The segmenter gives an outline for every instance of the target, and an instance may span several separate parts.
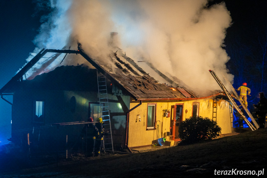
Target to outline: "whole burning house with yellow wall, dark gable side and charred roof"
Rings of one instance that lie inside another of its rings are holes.
[[[82,55],[93,67],[61,66],[22,80],[47,52]],[[179,123],[193,115],[216,120],[222,134],[232,132],[232,107],[222,93],[196,95],[180,86],[176,77],[171,79],[148,64],[170,85],[162,84],[120,49],[109,59],[99,62],[81,49],[40,51],[0,90],[1,95],[13,95],[10,140],[22,143],[28,139],[32,147],[52,150],[57,145],[64,150],[67,142],[69,150],[79,149],[88,117],[94,121],[103,117],[114,148],[151,145],[162,137],[178,141]],[[101,78],[104,84],[100,84]],[[108,114],[102,113],[105,107]]]

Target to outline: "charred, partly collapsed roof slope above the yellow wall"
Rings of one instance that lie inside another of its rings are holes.
[[[156,71],[153,70],[172,85],[168,86],[159,83],[144,69],[139,67],[134,60],[123,54],[120,49],[110,55],[110,61],[116,67],[110,67],[110,65],[101,65],[101,67],[106,72],[109,72],[110,76],[117,80],[135,99],[197,98],[195,94],[179,87],[179,84],[159,72],[151,63],[148,63],[149,67],[156,69]]]

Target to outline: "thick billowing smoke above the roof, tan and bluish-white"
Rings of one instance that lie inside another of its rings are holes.
[[[37,51],[64,46],[76,50],[79,41],[89,55],[105,59],[112,50],[110,32],[118,32],[117,45],[130,58],[148,60],[159,71],[176,76],[192,88],[219,89],[208,70],[233,79],[226,74],[229,57],[222,49],[231,17],[225,3],[209,8],[207,3],[208,0],[51,0],[55,11],[35,39]],[[58,65],[61,59],[48,68]]]

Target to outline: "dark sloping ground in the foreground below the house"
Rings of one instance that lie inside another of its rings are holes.
[[[60,157],[57,163],[50,160],[51,163],[31,168],[16,168],[19,163],[14,162],[14,167],[0,169],[0,177],[214,177],[215,170],[235,169],[256,173],[265,169],[259,177],[267,177],[266,138],[267,128],[221,135],[192,145],[139,147],[132,148],[134,153],[120,150],[87,159],[83,155]]]

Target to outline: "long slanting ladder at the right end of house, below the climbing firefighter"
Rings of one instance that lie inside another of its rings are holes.
[[[248,127],[254,131],[257,128],[259,128],[259,125],[256,123],[255,119],[252,117],[252,115],[250,114],[250,112],[248,111],[248,109],[243,105],[243,103],[240,101],[239,96],[237,95],[237,93],[234,91],[234,87],[231,85],[231,89],[233,90],[236,98],[238,98],[239,102],[241,103],[241,106],[244,108],[244,110],[247,112],[248,116],[250,117],[250,119],[252,120],[252,122],[254,123],[255,127],[248,121],[248,119],[246,118],[246,116],[243,114],[243,112],[240,110],[240,108],[238,107],[238,105],[236,104],[236,102],[234,101],[234,99],[231,97],[230,93],[227,91],[227,89],[225,88],[225,86],[222,84],[221,80],[216,76],[215,72],[213,70],[209,70],[209,72],[211,73],[211,75],[213,76],[213,78],[217,81],[217,83],[219,84],[219,86],[222,88],[222,90],[225,92],[226,96],[228,97],[228,99],[230,100],[230,102],[232,103],[232,105],[235,107],[235,109],[239,112],[239,114],[242,116],[242,118],[245,120],[245,122],[248,124]]]

